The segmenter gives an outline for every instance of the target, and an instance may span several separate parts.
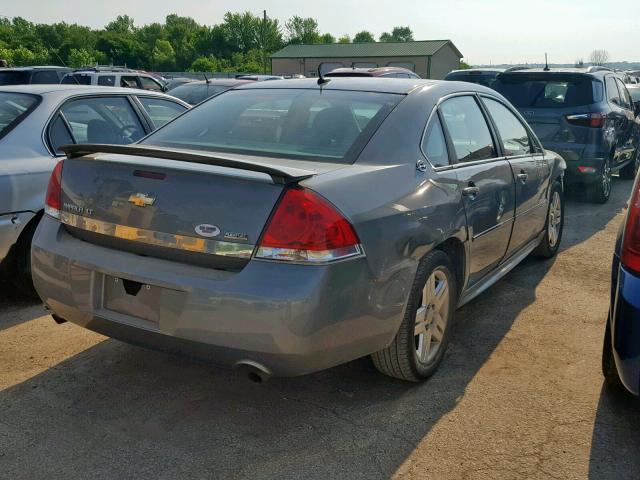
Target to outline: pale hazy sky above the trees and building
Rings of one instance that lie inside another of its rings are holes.
[[[607,8],[611,7],[611,8]],[[376,37],[408,25],[416,40],[450,39],[471,64],[588,61],[605,49],[612,61],[640,61],[640,8],[634,0],[0,0],[0,15],[36,23],[65,21],[103,27],[127,14],[136,25],[167,14],[220,23],[225,12],[266,9],[282,24],[293,15],[313,17],[322,33]]]

